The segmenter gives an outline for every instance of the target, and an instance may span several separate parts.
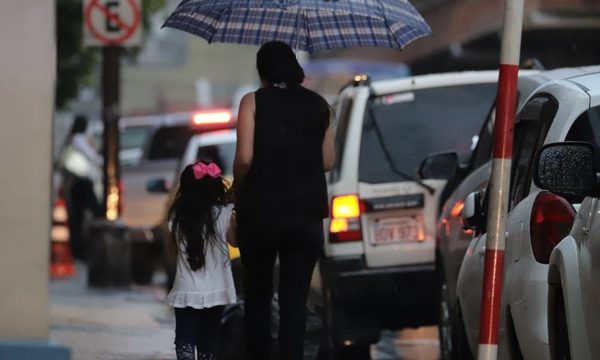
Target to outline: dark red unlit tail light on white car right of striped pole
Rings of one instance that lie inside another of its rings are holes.
[[[531,248],[535,259],[543,264],[550,260],[552,249],[569,234],[575,219],[575,209],[564,198],[541,192],[531,212]]]

